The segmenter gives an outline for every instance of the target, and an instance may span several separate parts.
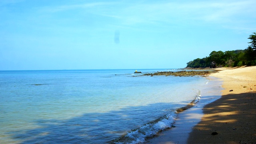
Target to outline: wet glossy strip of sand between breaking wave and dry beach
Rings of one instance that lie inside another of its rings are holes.
[[[206,77],[207,78],[207,77]],[[200,122],[203,116],[203,107],[221,97],[222,81],[209,76],[207,86],[200,88],[201,98],[193,107],[177,114],[172,128],[160,132],[153,138],[148,138],[146,144],[185,144],[192,128]]]

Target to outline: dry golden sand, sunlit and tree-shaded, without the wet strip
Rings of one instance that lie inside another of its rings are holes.
[[[256,66],[218,70],[211,75],[223,80],[222,97],[204,107],[187,143],[256,143]]]

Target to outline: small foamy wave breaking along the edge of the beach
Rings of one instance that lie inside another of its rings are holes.
[[[165,116],[162,116],[157,120],[144,124],[140,128],[131,130],[130,132],[127,132],[124,136],[118,139],[115,139],[110,143],[111,144],[144,143],[146,142],[146,138],[156,136],[159,132],[166,130],[167,128],[174,127],[173,124],[175,119],[177,118],[177,114],[179,112],[182,112],[183,110],[193,107],[197,102],[199,102],[200,98],[201,98],[201,94],[200,94],[200,90],[198,90],[198,94],[196,95],[196,98],[192,100],[192,102],[190,102],[187,106],[178,108],[176,110],[172,110],[170,113],[166,114]]]

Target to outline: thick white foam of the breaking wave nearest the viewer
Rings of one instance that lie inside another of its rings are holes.
[[[160,118],[159,121],[151,122],[141,126],[140,128],[127,132],[122,140],[115,144],[138,144],[146,142],[146,138],[155,136],[161,130],[170,128],[177,118],[177,111],[173,111],[166,116]]]

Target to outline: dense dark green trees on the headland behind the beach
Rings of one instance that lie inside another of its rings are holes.
[[[205,58],[197,58],[187,63],[189,68],[206,68],[210,67],[212,62],[216,62],[216,66],[256,66],[256,32],[253,32],[248,42],[250,46],[245,50],[231,51],[212,51]]]

